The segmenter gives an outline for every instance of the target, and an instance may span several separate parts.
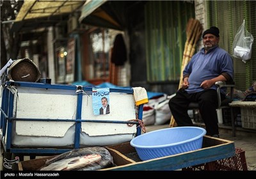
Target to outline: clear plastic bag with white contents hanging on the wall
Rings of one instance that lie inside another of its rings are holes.
[[[246,30],[245,20],[239,27],[233,42],[233,56],[242,59],[244,63],[251,58],[252,55],[253,36]]]

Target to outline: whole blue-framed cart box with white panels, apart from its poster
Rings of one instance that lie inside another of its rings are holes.
[[[106,115],[93,114],[93,88],[6,81],[1,86],[4,151],[56,154],[125,143],[141,134],[143,104],[135,105],[132,88],[109,88]]]

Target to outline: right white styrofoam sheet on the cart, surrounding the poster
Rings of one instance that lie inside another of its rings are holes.
[[[112,120],[129,121],[136,119],[134,97],[126,93],[109,93],[110,113],[94,115],[92,110],[92,97],[83,96],[82,119],[87,120]],[[120,123],[82,123],[82,131],[89,136],[106,136],[113,134],[134,134],[136,125],[129,127]]]

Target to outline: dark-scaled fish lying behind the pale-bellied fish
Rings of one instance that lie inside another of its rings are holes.
[[[86,166],[77,167],[74,170],[97,170],[97,169],[103,169],[106,167],[112,167],[113,157],[109,153],[109,151],[100,146],[93,146],[93,147],[85,147],[85,148],[79,148],[70,150],[69,152],[61,153],[60,155],[57,155],[56,157],[53,157],[52,159],[49,159],[45,162],[45,165],[42,166],[39,170],[42,170],[44,167],[49,166],[50,164],[54,162],[58,162],[60,160],[67,160],[68,162],[71,162],[72,160],[75,160],[75,157],[84,157],[86,155],[100,155],[100,160],[97,160],[97,162],[91,162],[86,164]],[[64,164],[63,162],[62,165]],[[53,169],[52,169],[53,170]]]

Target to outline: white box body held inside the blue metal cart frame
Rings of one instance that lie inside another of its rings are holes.
[[[77,94],[75,90],[11,87],[14,95],[13,117],[25,119],[75,120]],[[109,145],[131,141],[136,136],[136,125],[115,121],[136,119],[132,94],[109,93],[111,113],[94,115],[92,95],[83,93],[81,119],[106,120],[111,123],[82,122],[80,143]],[[12,144],[15,146],[67,146],[74,144],[74,121],[14,121]]]

